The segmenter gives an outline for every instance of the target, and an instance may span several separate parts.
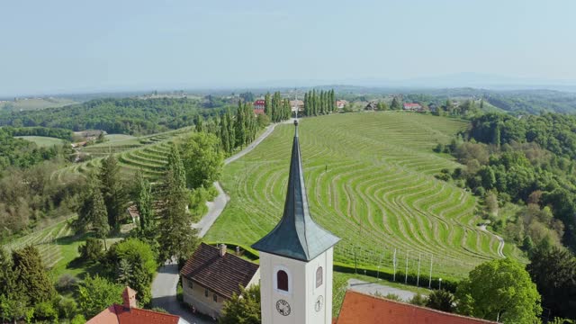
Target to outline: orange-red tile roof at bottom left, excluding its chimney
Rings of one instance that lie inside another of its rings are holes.
[[[126,309],[121,305],[112,305],[101,311],[86,324],[177,324],[180,318],[157,311]]]

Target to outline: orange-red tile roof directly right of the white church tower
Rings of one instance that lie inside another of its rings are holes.
[[[486,324],[495,323],[393,302],[364,293],[347,291],[337,324]]]

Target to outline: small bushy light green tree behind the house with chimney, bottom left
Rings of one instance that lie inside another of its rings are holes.
[[[97,313],[114,303],[122,302],[122,286],[95,275],[86,275],[84,283],[78,287],[78,306],[86,318],[91,319]]]

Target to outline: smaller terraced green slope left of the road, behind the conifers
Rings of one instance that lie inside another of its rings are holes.
[[[52,176],[61,180],[70,172],[85,175],[100,166],[103,157],[114,153],[118,157],[122,175],[130,177],[141,170],[149,179],[155,180],[164,172],[171,143],[182,139],[189,131],[190,128],[184,128],[143,138],[122,137],[82,148],[81,151],[93,159],[62,168]]]

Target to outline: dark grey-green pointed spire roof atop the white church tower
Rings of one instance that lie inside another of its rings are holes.
[[[290,175],[282,220],[252,247],[281,257],[310,261],[338,243],[340,238],[322,229],[311,218],[302,171],[298,120],[294,121],[294,125]]]

